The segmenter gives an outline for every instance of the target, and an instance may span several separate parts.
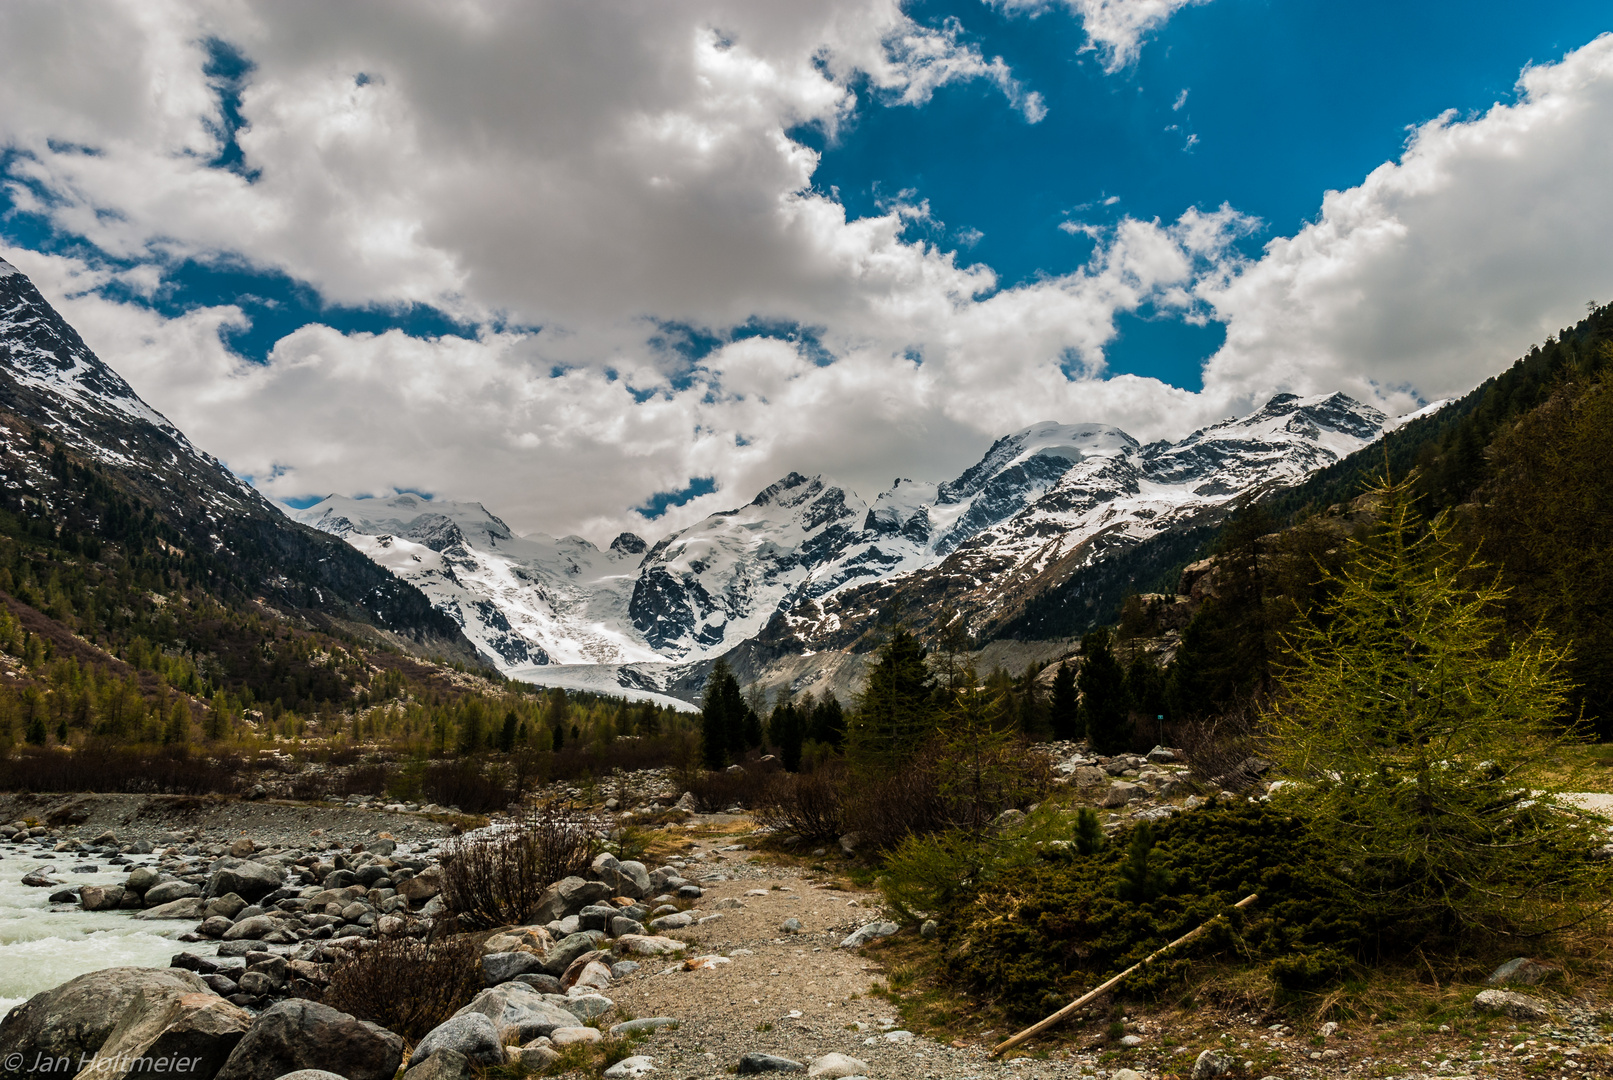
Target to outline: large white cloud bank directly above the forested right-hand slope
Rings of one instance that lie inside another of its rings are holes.
[[[1229,403],[1461,393],[1613,295],[1613,35],[1529,68],[1516,103],[1411,135],[1318,219],[1197,295],[1227,322]]]

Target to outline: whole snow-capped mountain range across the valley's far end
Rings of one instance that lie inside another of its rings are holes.
[[[1102,424],[1032,424],[953,480],[898,479],[868,503],[792,472],[648,550],[632,534],[603,551],[516,537],[481,505],[413,495],[295,516],[418,585],[506,671],[692,663],[781,617],[805,645],[845,645],[894,592],[979,622],[1050,572],[1300,480],[1382,427],[1344,395],[1279,395],[1147,447]]]

